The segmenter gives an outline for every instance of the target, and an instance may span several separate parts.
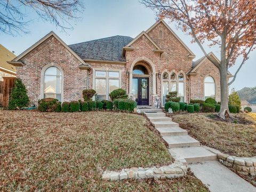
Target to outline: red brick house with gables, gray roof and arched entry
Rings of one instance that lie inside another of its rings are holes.
[[[153,105],[157,95],[163,105],[170,91],[178,91],[184,102],[208,97],[220,101],[218,68],[206,57],[194,58],[161,20],[134,39],[113,36],[67,45],[51,32],[10,63],[33,103],[47,97],[49,85],[55,91],[52,97],[60,101],[79,100],[84,89],[97,91],[98,99],[109,99],[117,88],[134,95],[138,105]]]

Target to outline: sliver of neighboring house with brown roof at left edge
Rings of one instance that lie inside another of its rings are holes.
[[[0,81],[3,81],[3,77],[16,76],[15,67],[8,63],[8,61],[13,60],[15,57],[16,55],[0,44]]]

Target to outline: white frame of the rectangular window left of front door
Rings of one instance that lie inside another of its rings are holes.
[[[96,71],[106,71],[106,77],[97,77],[96,76]],[[119,77],[109,77],[109,72],[118,72]],[[122,87],[122,69],[104,69],[104,68],[94,68],[93,69],[93,85],[92,89],[95,90],[95,79],[106,79],[106,100],[110,100],[109,98],[109,79],[118,79],[119,80],[119,87]],[[96,90],[95,90],[96,91]],[[102,94],[99,94],[102,95]],[[95,101],[95,96],[93,97],[93,100]]]

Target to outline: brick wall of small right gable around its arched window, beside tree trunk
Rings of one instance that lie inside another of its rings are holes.
[[[212,76],[215,81],[215,99],[220,101],[220,73],[219,69],[208,59],[196,71],[196,76],[190,77],[191,99],[204,99],[204,79]]]

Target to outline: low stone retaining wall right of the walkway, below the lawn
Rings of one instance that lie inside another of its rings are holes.
[[[218,153],[220,163],[243,175],[256,175],[256,157],[236,157]]]

